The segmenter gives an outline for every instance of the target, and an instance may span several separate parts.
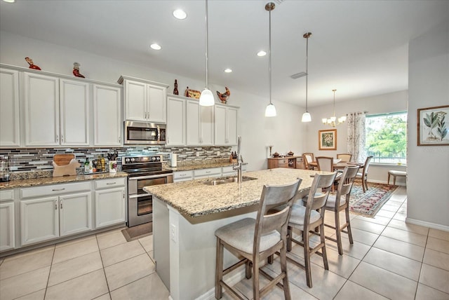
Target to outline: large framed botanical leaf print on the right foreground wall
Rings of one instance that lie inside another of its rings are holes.
[[[418,109],[418,146],[449,146],[449,105]]]

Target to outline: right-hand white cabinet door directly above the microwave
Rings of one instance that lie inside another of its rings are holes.
[[[167,115],[167,88],[147,85],[148,88],[148,118],[152,123],[166,123]]]

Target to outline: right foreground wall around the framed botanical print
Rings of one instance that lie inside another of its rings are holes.
[[[407,221],[449,231],[449,146],[417,146],[416,130],[417,109],[449,104],[449,20],[410,41],[408,86]]]

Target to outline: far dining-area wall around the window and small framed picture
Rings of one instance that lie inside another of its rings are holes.
[[[337,87],[336,87],[337,88]],[[338,89],[337,89],[338,92]],[[408,91],[360,98],[357,100],[338,100],[335,93],[335,116],[338,118],[350,112],[368,111],[370,114],[385,114],[396,111],[407,111]],[[330,92],[330,97],[332,93]],[[313,100],[312,100],[313,101]],[[337,125],[337,150],[319,151],[319,130],[334,129],[321,123],[322,118],[329,118],[333,114],[333,104],[309,108],[312,121],[306,125],[307,139],[304,141],[304,152],[313,152],[315,156],[337,157],[339,153],[347,153],[347,124]],[[368,181],[387,183],[388,170],[406,170],[406,166],[397,165],[370,165]],[[396,184],[405,185],[405,179],[398,177]]]

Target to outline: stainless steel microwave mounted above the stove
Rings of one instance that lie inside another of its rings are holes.
[[[125,144],[165,144],[166,124],[125,121]]]

